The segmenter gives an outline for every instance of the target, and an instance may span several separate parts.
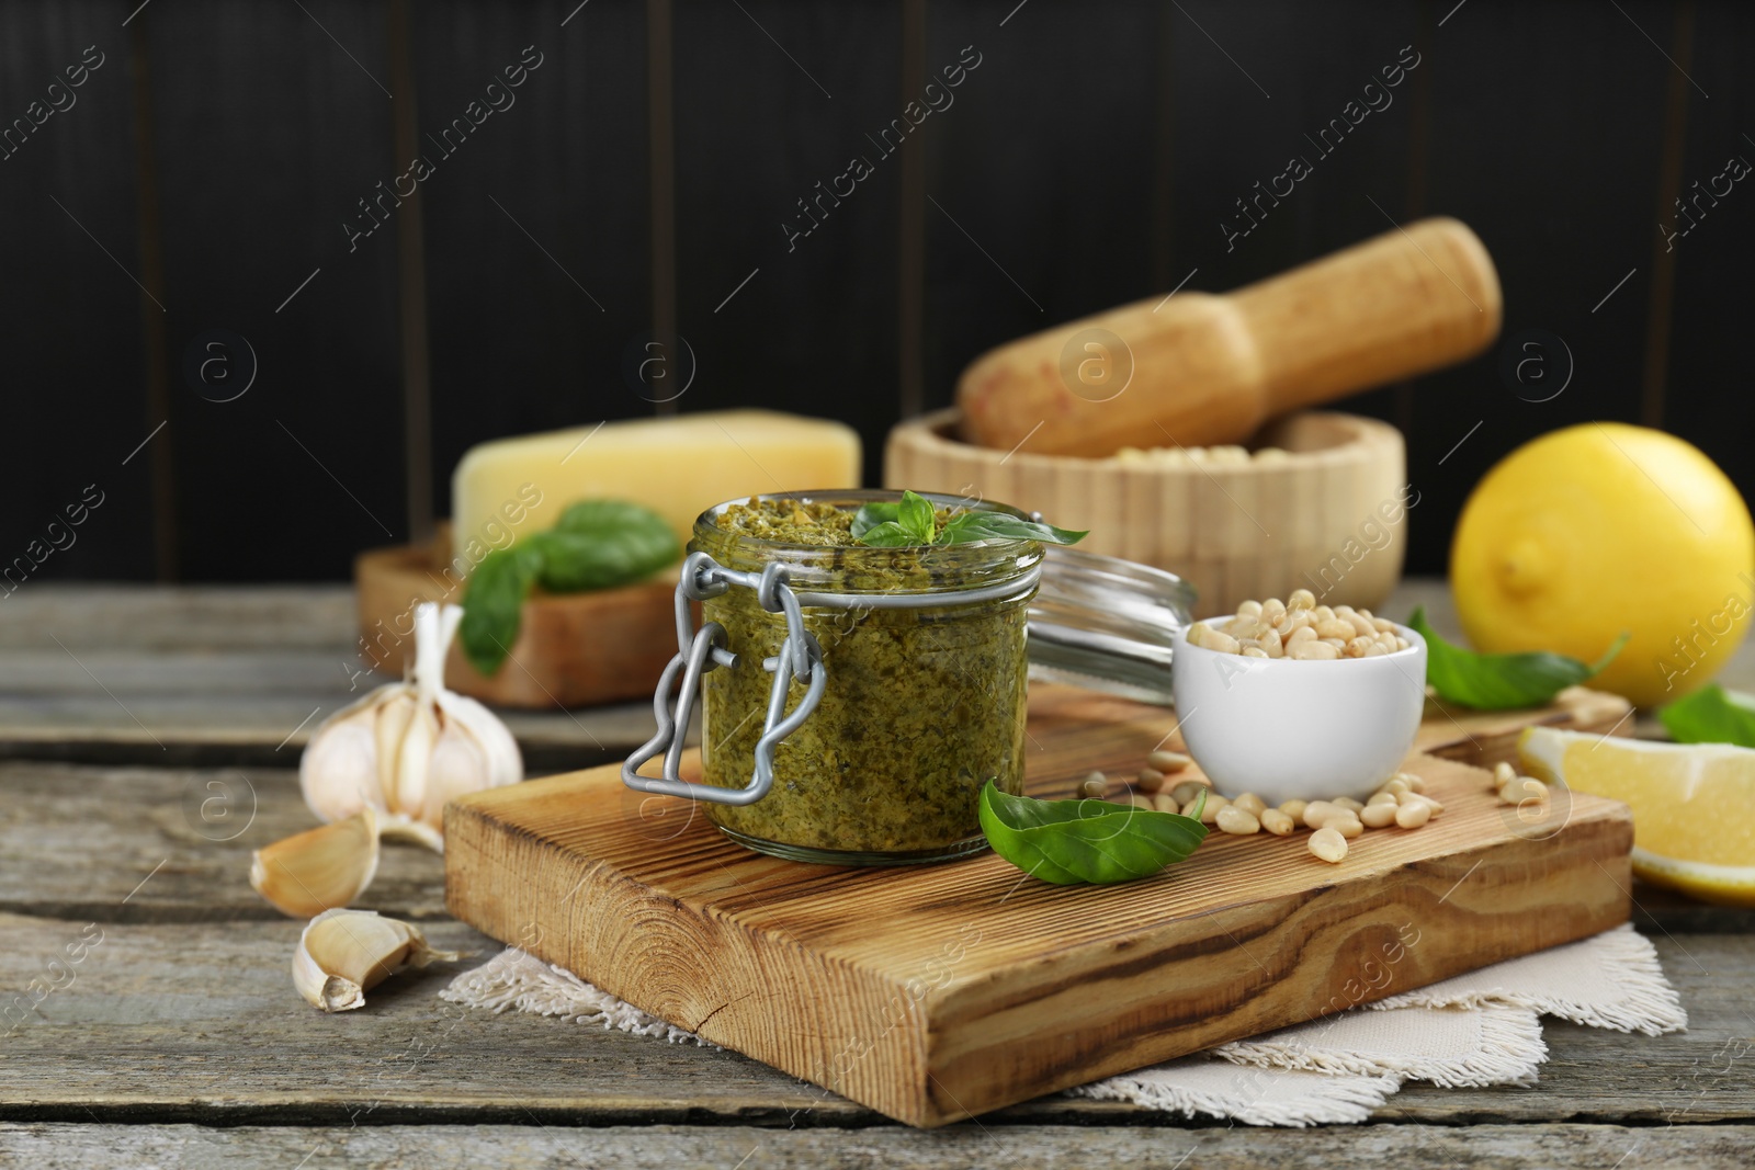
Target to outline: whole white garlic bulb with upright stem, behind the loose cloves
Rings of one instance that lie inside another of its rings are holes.
[[[386,837],[442,849],[448,800],[525,777],[518,742],[498,716],[444,688],[462,619],[458,605],[416,607],[411,677],[337,710],[311,735],[298,784],[319,817],[374,809]]]

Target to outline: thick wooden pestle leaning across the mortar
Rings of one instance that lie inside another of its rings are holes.
[[[956,384],[963,439],[1106,456],[1246,440],[1276,414],[1425,374],[1499,333],[1499,275],[1422,219],[1234,293],[1176,293],[1009,342]]]

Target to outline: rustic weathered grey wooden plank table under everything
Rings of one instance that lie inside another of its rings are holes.
[[[1415,603],[1453,631],[1437,582]],[[1636,888],[1692,1026],[1548,1023],[1534,1088],[1413,1084],[1362,1126],[1251,1130],[1044,1098],[914,1131],[732,1052],[463,1010],[451,970],[367,1010],[293,993],[298,923],[246,879],[311,824],[297,756],[363,693],[344,588],[37,588],[0,605],[0,1165],[1732,1166],[1755,1158],[1755,914]],[[1755,651],[1727,681],[1755,686]],[[349,688],[355,688],[349,691]],[[516,716],[532,774],[618,758],[628,705]],[[386,853],[363,905],[441,947],[442,868]],[[68,951],[72,947],[72,951]],[[82,954],[68,963],[68,954]]]

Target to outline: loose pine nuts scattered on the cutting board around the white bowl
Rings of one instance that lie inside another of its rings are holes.
[[[1278,809],[1271,809],[1255,793],[1241,796],[1221,796],[1202,781],[1181,781],[1172,784],[1171,775],[1181,772],[1192,760],[1174,751],[1155,751],[1146,758],[1146,767],[1134,777],[1134,791],[1127,800],[1135,809],[1155,812],[1179,812],[1193,816],[1202,793],[1206,805],[1200,809],[1200,823],[1211,824],[1221,833],[1234,837],[1253,837],[1267,830],[1274,837],[1290,837],[1300,828],[1313,830],[1309,851],[1323,861],[1337,863],[1346,858],[1346,842],[1360,837],[1367,828],[1422,828],[1432,817],[1444,812],[1444,805],[1436,796],[1425,795],[1425,781],[1413,772],[1397,772],[1385,781],[1364,803],[1337,796],[1334,800],[1288,800]],[[1509,772],[1508,765],[1499,765]],[[1495,770],[1495,777],[1499,772]],[[1513,775],[1513,781],[1518,777]],[[1541,786],[1541,781],[1527,781]],[[1169,791],[1164,791],[1169,786]],[[1546,786],[1541,786],[1546,793]],[[1102,772],[1092,772],[1079,784],[1079,795],[1102,800],[1107,795],[1109,779]],[[1532,793],[1522,793],[1513,786],[1501,784],[1501,798],[1509,803],[1527,800]],[[1516,796],[1511,793],[1516,791]]]

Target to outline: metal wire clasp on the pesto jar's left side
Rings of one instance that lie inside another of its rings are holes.
[[[762,663],[763,670],[774,674],[774,684],[769,688],[767,721],[762,724],[762,738],[756,740],[755,772],[749,775],[749,784],[716,788],[691,784],[681,777],[683,735],[688,731],[695,696],[700,695],[700,675],[718,667],[735,667],[737,654],[725,644],[725,626],[720,623],[707,621],[702,623],[700,630],[695,630],[690,602],[720,596],[732,586],[755,589],[762,609],[770,614],[784,614],[786,639],[779,644],[779,654]],[[670,689],[676,688],[677,672],[683,674],[683,688],[672,702]],[[797,731],[821,702],[827,674],[823,647],[804,628],[804,612],[799,609],[799,598],[786,586],[784,565],[767,565],[760,574],[744,574],[725,568],[706,553],[690,553],[688,560],[683,561],[683,577],[676,582],[676,656],[663,668],[658,689],[653,693],[658,733],[627,758],[621,765],[621,782],[642,793],[711,800],[721,805],[753,805],[767,796],[774,786],[774,749]],[[786,693],[793,679],[809,684],[809,689],[793,712],[786,716]],[[663,753],[663,775],[639,775],[641,765],[660,753]]]

